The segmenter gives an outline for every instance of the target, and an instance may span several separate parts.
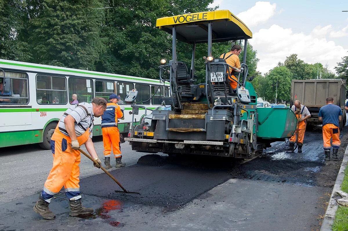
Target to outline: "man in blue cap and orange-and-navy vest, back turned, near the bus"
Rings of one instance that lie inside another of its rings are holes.
[[[124,167],[125,163],[121,162],[121,150],[120,150],[120,131],[117,127],[117,119],[123,118],[124,106],[120,108],[117,104],[118,100],[121,99],[117,94],[111,94],[109,96],[108,104],[106,105],[106,110],[102,115],[102,133],[103,133],[103,143],[104,143],[104,164],[105,168],[112,168],[110,165],[110,155],[111,148],[113,155],[116,158],[116,167]]]

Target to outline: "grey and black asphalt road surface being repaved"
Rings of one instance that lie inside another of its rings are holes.
[[[348,130],[348,129],[347,129]],[[342,159],[348,132],[341,132]],[[95,139],[102,157],[103,143]],[[325,163],[320,128],[306,132],[303,152],[276,142],[240,165],[224,158],[171,156],[121,145],[127,167],[110,173],[81,157],[80,188],[88,217],[69,217],[63,192],[50,209],[56,219],[32,211],[52,167],[50,150],[37,145],[0,148],[0,231],[9,230],[319,230],[340,162]],[[112,159],[112,165],[114,165]]]

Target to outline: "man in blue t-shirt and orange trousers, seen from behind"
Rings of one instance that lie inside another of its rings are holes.
[[[330,140],[332,138],[332,159],[338,160],[337,152],[341,145],[339,124],[342,120],[342,110],[333,104],[333,98],[326,98],[326,105],[318,113],[319,121],[323,121],[323,141],[325,161],[330,161]]]

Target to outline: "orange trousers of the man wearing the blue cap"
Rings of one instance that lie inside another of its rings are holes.
[[[117,127],[102,127],[104,157],[110,157],[111,148],[113,155],[118,158],[121,156],[120,150],[120,131]]]

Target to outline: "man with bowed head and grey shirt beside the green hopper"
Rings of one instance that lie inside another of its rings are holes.
[[[304,138],[304,132],[306,131],[306,119],[310,117],[309,110],[306,106],[301,105],[301,102],[299,100],[295,100],[294,105],[292,105],[291,110],[295,113],[295,116],[297,118],[297,126],[296,131],[293,134],[293,136],[290,138],[289,147],[286,149],[286,151],[294,151],[294,146],[296,142],[296,135],[297,142],[298,142],[298,152],[302,152],[302,146],[303,146],[303,138]]]

